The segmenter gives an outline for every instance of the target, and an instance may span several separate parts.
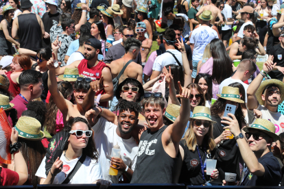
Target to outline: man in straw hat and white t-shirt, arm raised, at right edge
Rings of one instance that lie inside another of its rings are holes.
[[[248,86],[248,123],[251,124],[255,118],[264,118],[271,121],[275,126],[277,135],[284,131],[284,115],[277,112],[278,105],[284,100],[284,84],[278,79],[268,79],[267,73],[272,71],[276,63],[273,63],[272,57],[263,63],[263,70],[252,83]],[[256,109],[256,110],[255,110]],[[259,113],[261,116],[259,117]]]

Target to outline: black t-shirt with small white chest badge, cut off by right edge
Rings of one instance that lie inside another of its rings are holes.
[[[272,47],[272,49],[268,52],[269,55],[274,56],[273,62],[276,62],[276,66],[284,67],[284,49],[281,47],[281,45],[275,45]],[[283,80],[283,73],[281,71],[270,71],[268,73],[272,79],[279,79],[280,81]]]

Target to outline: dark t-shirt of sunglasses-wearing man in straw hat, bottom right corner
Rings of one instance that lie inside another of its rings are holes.
[[[252,175],[250,171],[246,171],[244,181],[241,183],[243,186],[279,186],[281,181],[281,167],[273,156],[272,152],[266,153],[259,158],[259,163],[264,167],[264,175],[257,177]]]

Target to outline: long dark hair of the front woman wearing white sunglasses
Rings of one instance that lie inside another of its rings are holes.
[[[67,123],[64,125],[63,131],[69,133],[73,125],[78,122],[86,123],[86,125],[88,126],[88,129],[89,130],[92,129],[91,126],[86,121],[86,119],[75,117],[75,118],[70,118],[69,121],[67,121]],[[64,147],[64,150],[68,149],[68,144],[69,142],[67,142],[66,146]],[[93,140],[93,136],[88,138],[88,144],[86,145],[86,148],[83,149],[83,153],[87,155],[88,157],[91,157],[93,160],[98,160],[99,153],[97,152],[97,149],[95,148],[95,141]]]

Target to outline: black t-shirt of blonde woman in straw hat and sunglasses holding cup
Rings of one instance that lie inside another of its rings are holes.
[[[178,179],[178,183],[196,186],[205,184],[206,181],[210,180],[210,175],[206,175],[206,173],[204,173],[204,178],[206,180],[203,179],[200,157],[202,159],[202,163],[204,164],[206,159],[212,159],[211,154],[214,155],[215,151],[211,152],[211,154],[205,155],[204,149],[198,147],[200,153],[199,157],[197,149],[195,151],[189,150],[185,139],[180,140],[180,146],[185,151],[185,157],[183,157],[182,169],[180,171],[180,178]]]

